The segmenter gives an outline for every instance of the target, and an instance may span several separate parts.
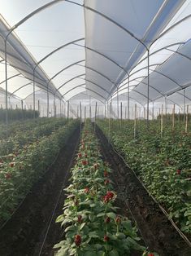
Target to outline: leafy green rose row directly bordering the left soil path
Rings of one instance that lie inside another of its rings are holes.
[[[33,183],[53,163],[77,125],[78,121],[69,121],[67,126],[54,130],[51,135],[0,158],[0,223],[11,217]]]

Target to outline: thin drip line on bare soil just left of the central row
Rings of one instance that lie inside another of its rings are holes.
[[[50,231],[50,226],[51,226],[51,223],[52,223],[53,218],[54,218],[55,210],[57,209],[57,207],[58,207],[58,205],[59,205],[60,196],[61,196],[62,193],[63,193],[63,188],[65,187],[66,179],[67,179],[67,176],[68,176],[68,174],[69,174],[69,170],[71,169],[72,161],[73,161],[74,155],[75,155],[75,153],[76,153],[76,148],[77,148],[79,142],[80,142],[80,136],[79,136],[79,139],[78,139],[77,142],[76,142],[76,146],[75,146],[74,152],[73,152],[73,154],[72,154],[71,161],[70,161],[69,166],[68,166],[68,168],[67,168],[67,173],[65,174],[65,176],[64,176],[64,178],[63,178],[63,185],[62,185],[62,187],[61,187],[61,189],[60,189],[59,196],[58,196],[57,201],[56,201],[56,203],[55,203],[55,205],[54,205],[54,210],[53,210],[52,214],[50,215],[50,218],[49,218],[49,221],[48,221],[48,227],[47,227],[47,229],[46,229],[46,234],[45,234],[44,239],[43,239],[43,242],[42,242],[42,244],[41,244],[41,249],[40,249],[40,251],[39,251],[38,256],[41,256],[42,249],[44,248],[44,245],[45,245],[45,242],[46,242],[46,237],[48,236],[48,233],[49,233],[49,231]]]

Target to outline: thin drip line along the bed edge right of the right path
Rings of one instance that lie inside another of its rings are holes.
[[[107,139],[107,140],[108,140],[108,143],[109,143],[109,139]],[[111,144],[111,143],[110,143],[110,144]],[[122,157],[122,156],[119,154],[119,152],[117,152],[117,151],[115,150],[115,148],[113,147],[112,144],[111,144],[111,148],[112,148],[113,151],[124,161],[124,164],[128,167],[129,170],[132,171],[132,173],[135,175],[135,177],[137,178],[137,180],[139,181],[139,183],[141,183],[141,185],[143,186],[143,188],[145,188],[144,183],[141,182],[141,179],[139,179],[139,177],[137,176],[137,174],[135,173],[135,171],[132,170],[132,169],[130,168],[130,166],[128,166],[128,163],[124,160],[124,157]],[[151,197],[151,198],[154,200],[154,202],[158,205],[158,207],[160,208],[160,210],[163,211],[163,214],[167,217],[167,219],[170,220],[171,225],[176,229],[176,232],[178,232],[179,235],[181,236],[181,238],[187,243],[187,245],[189,245],[189,247],[191,247],[191,241],[189,241],[189,238],[188,238],[187,236],[185,236],[183,232],[180,231],[180,228],[176,226],[176,223],[174,223],[174,221],[172,220],[172,218],[170,217],[170,215],[167,214],[167,211],[163,209],[163,206],[158,203],[158,201],[156,200],[156,198],[155,198],[152,194],[150,194],[150,192],[147,190],[147,188],[145,188],[145,191],[150,195],[150,197]]]

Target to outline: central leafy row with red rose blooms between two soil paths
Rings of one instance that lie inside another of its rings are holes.
[[[137,228],[115,206],[117,194],[110,174],[88,123],[81,135],[71,185],[65,189],[63,214],[56,220],[64,229],[63,241],[54,245],[57,256],[127,256],[144,251],[138,244]]]

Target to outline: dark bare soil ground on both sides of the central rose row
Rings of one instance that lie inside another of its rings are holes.
[[[119,214],[137,223],[140,236],[143,237],[142,245],[149,246],[160,256],[190,256],[189,246],[107,143],[98,127],[96,133],[101,142],[102,157],[114,170],[111,179],[118,193],[116,205],[121,208]],[[34,185],[20,209],[0,231],[1,256],[54,255],[52,247],[63,235],[55,218],[62,213],[63,187],[67,187],[69,170],[74,165],[79,136],[80,129],[77,129],[68,139],[67,147],[62,149],[54,166]]]

